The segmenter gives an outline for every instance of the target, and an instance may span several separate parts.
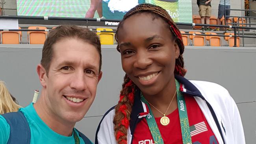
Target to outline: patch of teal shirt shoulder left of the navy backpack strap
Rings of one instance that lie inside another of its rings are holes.
[[[0,115],[0,144],[6,144],[9,139],[10,126],[6,119]]]

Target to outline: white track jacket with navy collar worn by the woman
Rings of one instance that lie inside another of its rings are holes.
[[[224,87],[206,81],[189,81],[178,75],[175,78],[182,83],[180,91],[195,98],[219,144],[245,144],[239,111]],[[128,144],[132,144],[136,124],[148,114],[139,94],[137,90],[128,128]],[[95,144],[116,144],[114,115],[115,107],[112,107],[103,116],[96,131]]]

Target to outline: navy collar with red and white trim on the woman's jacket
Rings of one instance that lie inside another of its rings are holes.
[[[188,96],[198,96],[205,100],[201,92],[189,80],[178,75],[175,75],[175,79],[181,83],[180,91],[182,93],[187,94]],[[145,107],[145,103],[141,102],[140,93],[141,91],[139,89],[135,91],[134,104],[132,106],[132,113],[130,116],[130,130],[132,135],[137,123],[141,120],[141,118],[147,116],[148,114],[147,106]]]

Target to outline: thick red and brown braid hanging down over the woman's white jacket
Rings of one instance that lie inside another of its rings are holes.
[[[118,144],[127,144],[127,129],[130,123],[130,114],[134,102],[134,83],[125,75],[120,93],[120,100],[115,107],[115,136]]]

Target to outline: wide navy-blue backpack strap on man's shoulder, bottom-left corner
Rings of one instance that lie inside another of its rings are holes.
[[[10,126],[7,144],[30,144],[30,127],[23,113],[12,112],[2,114]]]

